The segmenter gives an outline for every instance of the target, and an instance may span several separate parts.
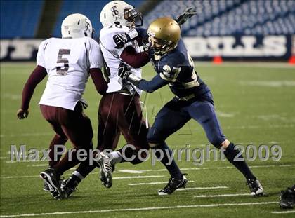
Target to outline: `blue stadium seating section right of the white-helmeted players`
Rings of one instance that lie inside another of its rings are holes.
[[[165,0],[145,16],[145,27],[159,15],[176,17],[189,6],[197,15],[183,25],[183,36],[295,34],[293,0]]]

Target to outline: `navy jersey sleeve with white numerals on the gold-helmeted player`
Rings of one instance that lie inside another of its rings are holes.
[[[166,57],[166,60],[160,62],[159,66],[159,76],[171,82],[175,82],[178,74],[181,72],[181,63],[183,63],[183,56],[173,55],[171,57]]]

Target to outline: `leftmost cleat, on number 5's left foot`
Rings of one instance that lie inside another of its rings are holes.
[[[49,189],[53,189],[53,191],[51,191],[53,198],[64,198],[63,191],[60,189],[60,175],[58,175],[53,168],[41,172],[40,177],[50,187]]]

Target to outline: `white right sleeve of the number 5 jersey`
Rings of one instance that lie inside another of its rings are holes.
[[[103,67],[103,55],[100,51],[100,46],[93,39],[90,40],[89,46],[89,68],[99,68]]]

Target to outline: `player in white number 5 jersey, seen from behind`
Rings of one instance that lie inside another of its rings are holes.
[[[37,54],[37,67],[29,76],[22,91],[22,106],[17,112],[22,119],[29,114],[29,101],[34,88],[47,75],[46,88],[39,102],[41,113],[51,123],[55,136],[49,146],[49,167],[41,172],[41,178],[49,186],[53,197],[63,198],[60,175],[79,163],[79,149],[92,149],[93,130],[90,119],[83,113],[85,105],[82,95],[89,75],[98,93],[104,94],[107,83],[101,68],[103,56],[100,47],[92,38],[91,21],[85,15],[67,16],[61,25],[63,39],[50,38],[42,41]],[[60,160],[55,159],[56,144],[72,142],[74,151]],[[79,176],[79,175],[78,175]]]

